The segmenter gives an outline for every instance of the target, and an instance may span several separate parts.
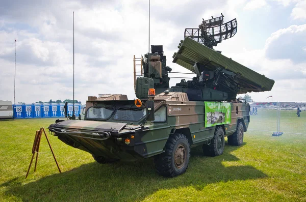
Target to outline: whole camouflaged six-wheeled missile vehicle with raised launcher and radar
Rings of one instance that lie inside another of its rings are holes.
[[[203,20],[201,37],[186,36],[173,55],[174,63],[194,74],[191,81],[182,79],[170,87],[172,69],[166,65],[163,47],[152,45],[151,53],[141,57],[143,76],[136,79],[134,66],[138,99],[90,96],[84,120],[57,120],[49,131],[67,145],[91,153],[99,163],[152,157],[157,172],[166,177],[186,171],[191,147],[201,146],[205,155],[218,156],[224,137],[228,145],[240,146],[250,106],[236,95],[269,91],[274,81],[212,49],[218,41],[207,29],[223,27],[223,15],[219,18]],[[228,37],[235,29],[237,23],[227,27]]]

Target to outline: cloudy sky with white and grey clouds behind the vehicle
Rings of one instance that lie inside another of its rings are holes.
[[[237,18],[235,37],[215,49],[274,79],[272,91],[254,101],[306,101],[305,0],[150,1],[150,44],[163,45],[167,65],[186,27],[223,13]],[[134,99],[133,56],[148,51],[148,1],[1,0],[0,100],[16,103],[72,99],[73,14],[75,99],[126,94]],[[183,76],[170,74],[170,76]],[[192,77],[192,75],[186,75]],[[171,79],[175,85],[180,79]]]

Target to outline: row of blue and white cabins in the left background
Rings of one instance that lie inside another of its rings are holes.
[[[31,118],[56,118],[65,117],[65,104],[15,104],[14,118],[15,119],[31,119]],[[73,104],[68,104],[68,114],[72,116]],[[75,117],[81,113],[81,105],[74,104]]]

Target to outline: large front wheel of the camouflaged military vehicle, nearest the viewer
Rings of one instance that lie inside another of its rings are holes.
[[[165,177],[175,177],[183,174],[189,163],[190,145],[185,135],[175,133],[166,143],[166,151],[154,158],[157,172]]]

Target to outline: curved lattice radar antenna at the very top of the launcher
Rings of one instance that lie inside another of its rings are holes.
[[[207,47],[213,49],[222,40],[229,39],[237,33],[236,18],[223,23],[223,14],[220,17],[213,17],[209,20],[204,20],[199,25],[199,28],[186,28],[184,38],[189,37]]]

